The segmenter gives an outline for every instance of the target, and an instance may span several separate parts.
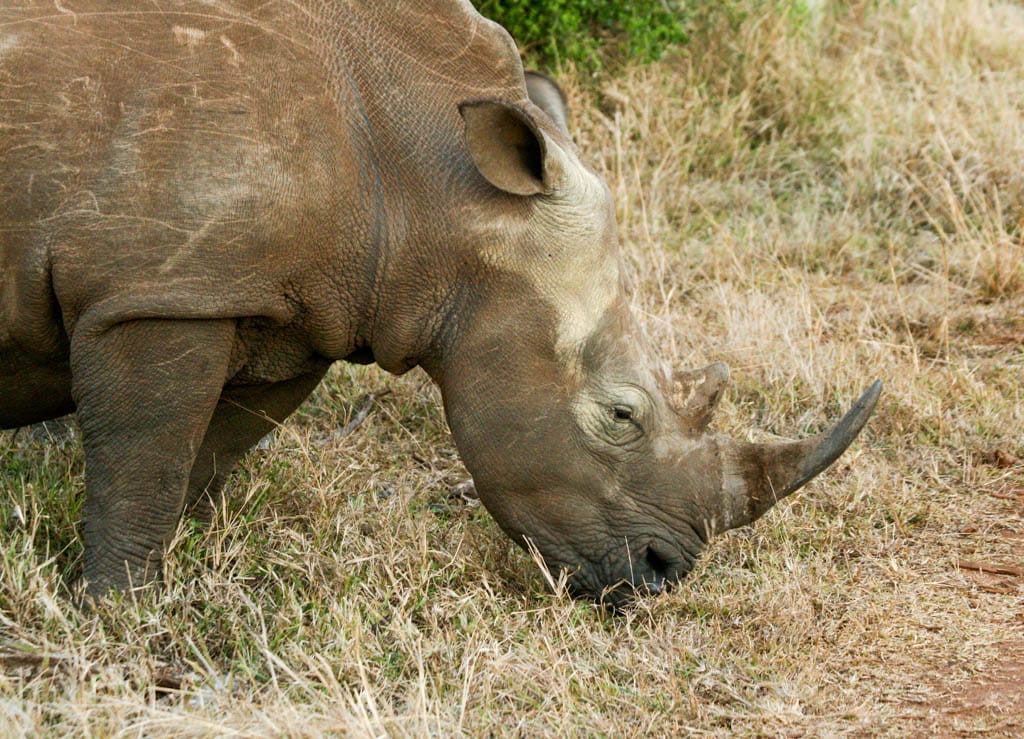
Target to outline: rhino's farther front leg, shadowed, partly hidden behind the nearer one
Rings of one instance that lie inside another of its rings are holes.
[[[227,476],[242,455],[297,408],[330,364],[286,382],[225,390],[196,455],[188,480],[187,511],[209,520]]]

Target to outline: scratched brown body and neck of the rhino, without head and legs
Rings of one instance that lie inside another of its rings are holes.
[[[382,262],[398,302],[443,271],[443,204],[479,185],[457,103],[484,96],[522,72],[468,2],[0,9],[0,351],[55,356],[90,310],[301,306],[344,355]]]

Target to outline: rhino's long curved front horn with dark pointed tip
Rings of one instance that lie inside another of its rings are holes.
[[[838,460],[870,418],[881,394],[882,381],[876,380],[830,431],[804,441],[751,444],[723,440],[719,453],[724,528],[756,521]]]

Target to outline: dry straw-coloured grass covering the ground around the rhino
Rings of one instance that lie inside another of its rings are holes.
[[[569,91],[651,338],[733,366],[718,429],[800,436],[885,380],[833,470],[610,618],[450,495],[423,375],[338,366],[166,593],[87,616],[74,429],[6,432],[0,735],[1024,730],[949,703],[1024,659],[1022,579],[956,567],[1024,560],[1024,11],[764,5]]]

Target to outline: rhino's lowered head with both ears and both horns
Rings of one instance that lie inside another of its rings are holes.
[[[484,197],[467,207],[471,287],[453,300],[432,374],[501,527],[566,570],[571,593],[617,606],[668,589],[713,534],[830,465],[881,384],[811,439],[710,433],[728,367],[671,373],[653,360],[629,308],[609,190],[575,156],[564,97],[527,82],[532,101],[461,106]]]

